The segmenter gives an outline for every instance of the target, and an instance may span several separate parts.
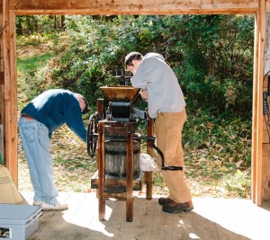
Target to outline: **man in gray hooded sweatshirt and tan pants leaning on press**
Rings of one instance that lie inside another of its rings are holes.
[[[141,88],[141,97],[148,101],[149,117],[155,120],[157,147],[165,156],[165,165],[184,167],[182,129],[186,120],[184,95],[174,71],[162,55],[130,52],[125,58],[126,70],[133,76],[132,86]],[[184,171],[162,170],[157,165],[169,190],[169,196],[159,198],[163,211],[177,213],[193,209],[192,196],[184,179]]]

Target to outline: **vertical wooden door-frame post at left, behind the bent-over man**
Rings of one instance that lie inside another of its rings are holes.
[[[4,149],[5,165],[15,185],[18,185],[17,159],[17,85],[15,50],[15,15],[8,9],[9,0],[3,1],[3,22],[8,22],[3,32],[4,46]]]

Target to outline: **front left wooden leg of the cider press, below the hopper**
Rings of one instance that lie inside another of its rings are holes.
[[[98,122],[98,203],[99,219],[105,219],[105,130],[104,121]]]

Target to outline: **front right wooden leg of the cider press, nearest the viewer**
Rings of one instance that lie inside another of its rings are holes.
[[[133,127],[132,122],[127,123],[126,136],[126,182],[127,182],[127,200],[126,200],[126,220],[133,220]]]

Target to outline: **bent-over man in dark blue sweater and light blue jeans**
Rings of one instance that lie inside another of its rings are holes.
[[[82,114],[89,111],[85,98],[68,90],[51,89],[29,102],[22,110],[19,130],[34,190],[33,204],[43,210],[67,209],[57,200],[50,156],[51,134],[65,123],[86,142]]]

